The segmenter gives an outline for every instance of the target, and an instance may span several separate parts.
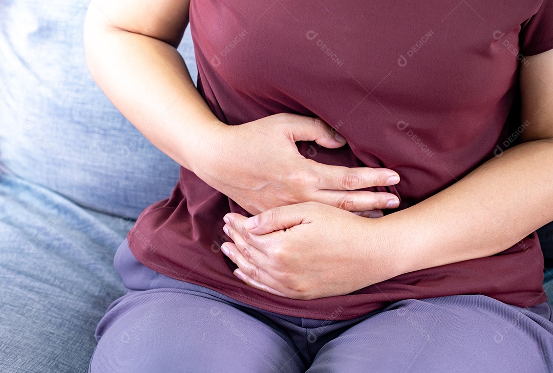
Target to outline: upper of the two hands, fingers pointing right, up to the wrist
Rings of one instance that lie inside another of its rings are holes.
[[[346,140],[336,134],[319,118],[289,113],[221,126],[192,171],[253,215],[307,201],[366,217],[382,216],[378,210],[398,207],[399,199],[392,193],[356,191],[395,185],[396,172],[321,164],[302,156],[295,144],[316,141],[325,148],[340,148]]]

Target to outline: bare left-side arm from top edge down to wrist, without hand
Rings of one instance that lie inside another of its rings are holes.
[[[85,20],[88,68],[113,104],[155,146],[191,169],[221,123],[196,90],[176,47],[190,0],[93,1]]]

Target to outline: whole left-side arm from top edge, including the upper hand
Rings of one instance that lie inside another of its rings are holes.
[[[346,144],[322,120],[286,113],[232,126],[218,120],[176,50],[189,8],[189,0],[96,0],[88,9],[85,50],[92,76],[148,140],[250,213],[318,201],[382,216],[373,210],[399,205],[390,193],[357,191],[398,183],[394,171],[301,156],[295,141]]]

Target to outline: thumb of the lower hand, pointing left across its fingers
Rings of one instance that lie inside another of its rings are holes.
[[[258,215],[244,220],[244,227],[253,234],[267,234],[276,230],[285,230],[307,223],[305,209],[298,208],[299,204],[270,208]]]

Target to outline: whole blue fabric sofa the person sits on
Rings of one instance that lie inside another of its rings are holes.
[[[87,6],[0,2],[1,372],[87,371],[96,324],[125,291],[114,252],[179,177],[88,73]],[[189,30],[179,51],[195,79]],[[553,258],[553,226],[539,234]]]

